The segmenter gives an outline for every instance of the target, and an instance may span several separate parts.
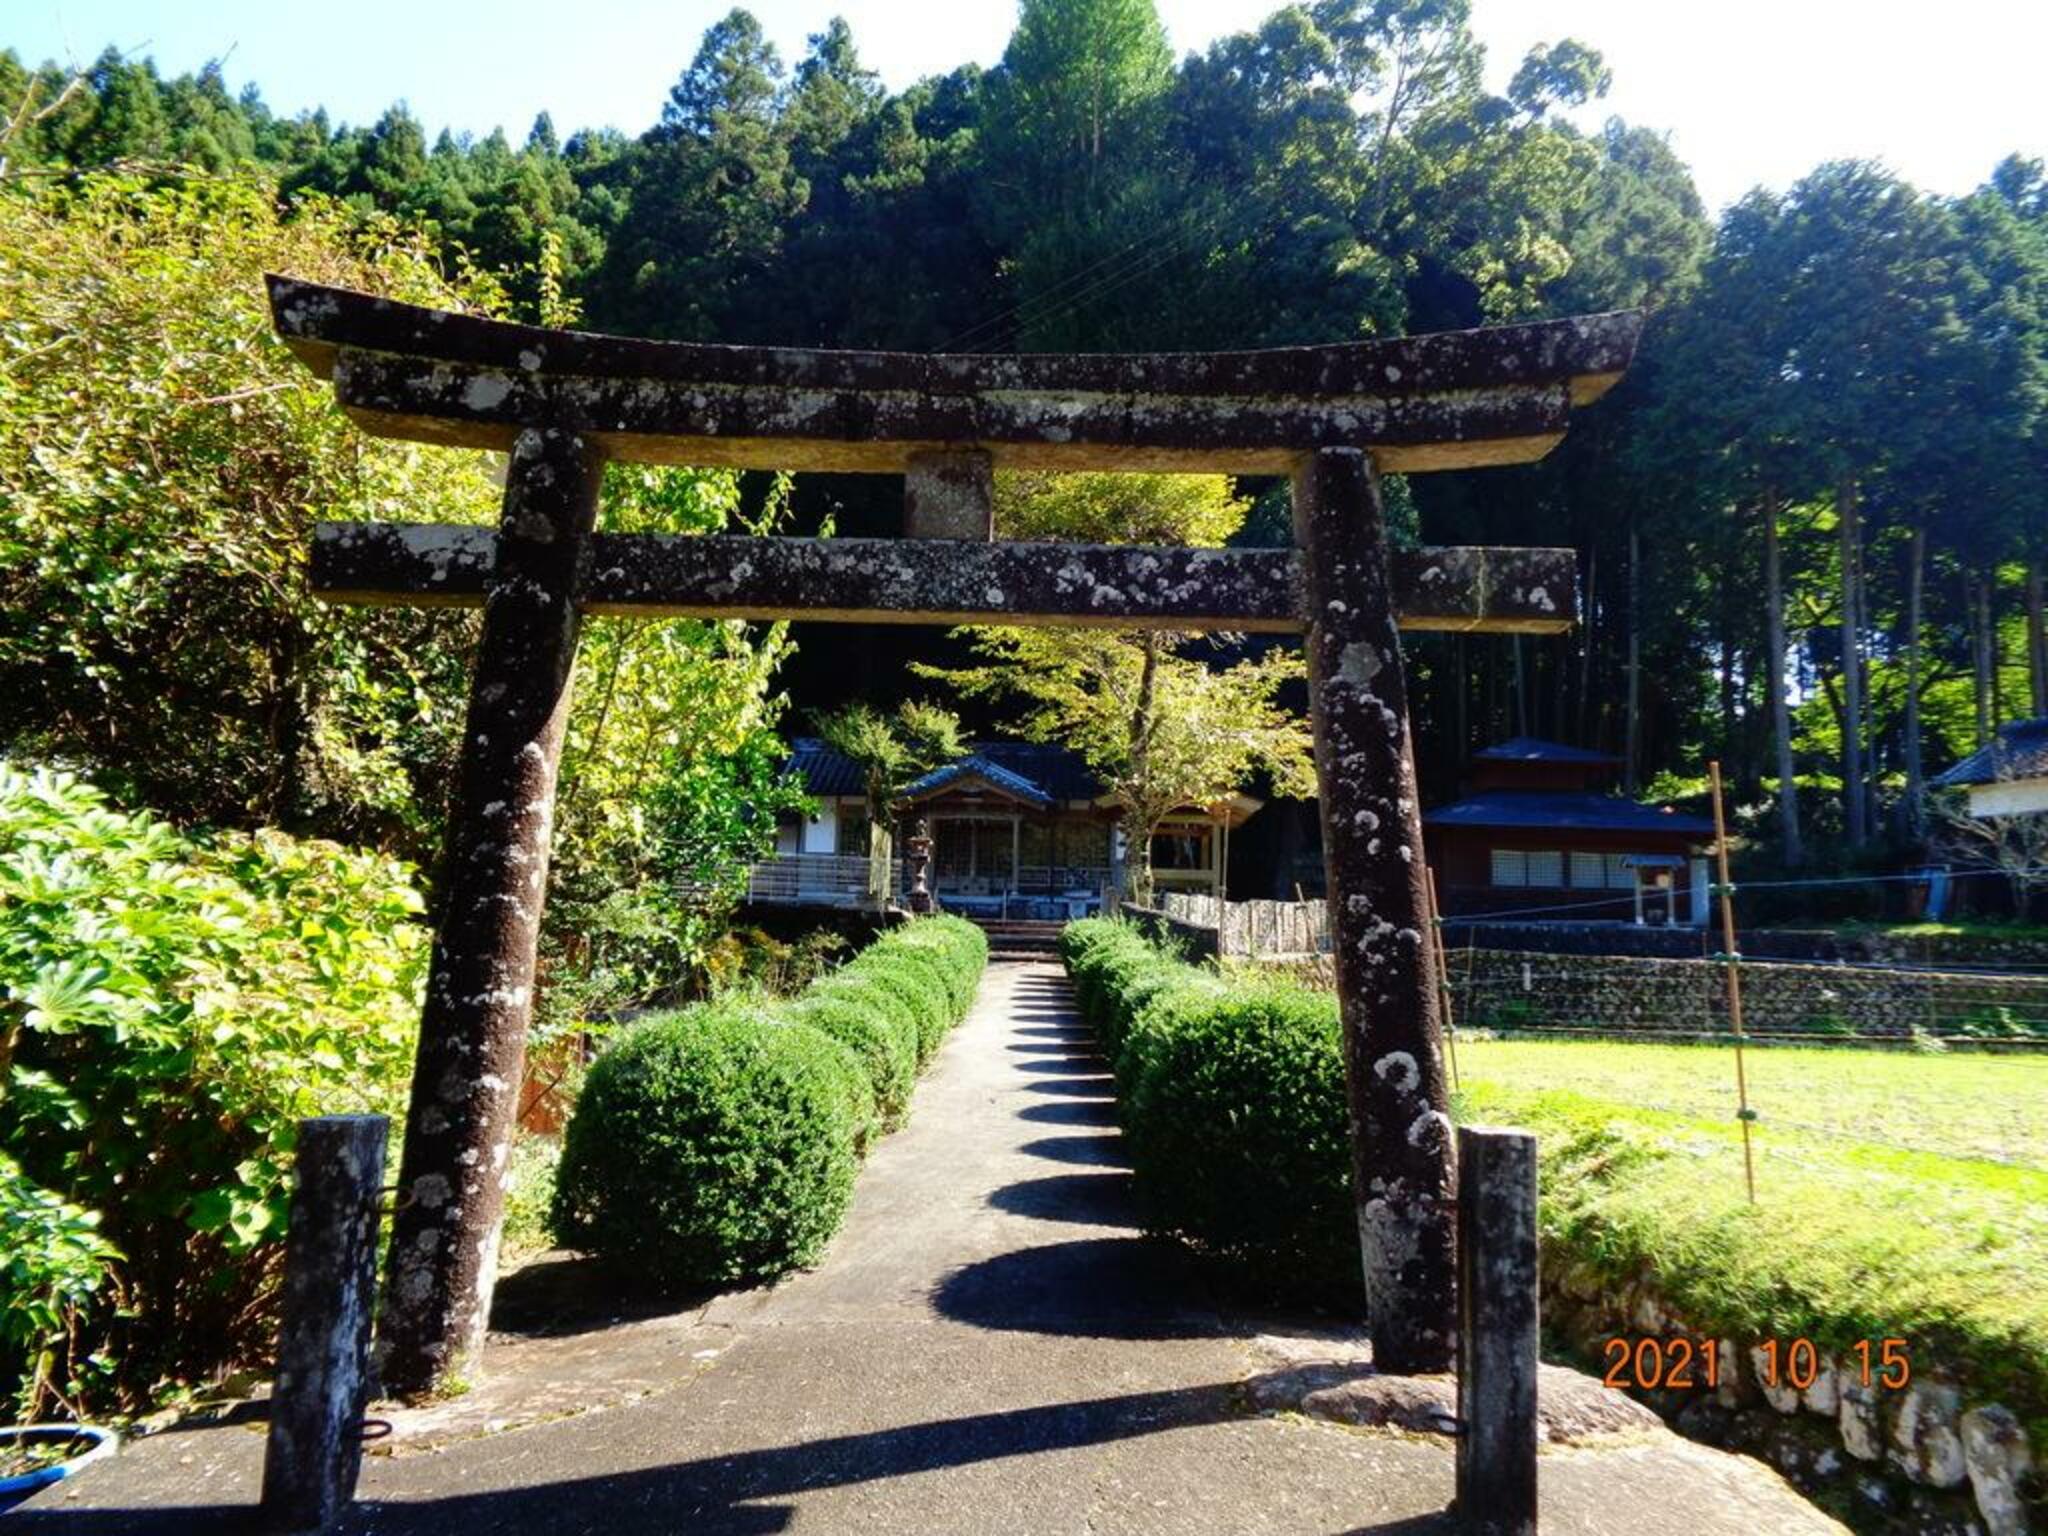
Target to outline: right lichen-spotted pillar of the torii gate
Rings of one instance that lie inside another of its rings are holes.
[[[1309,713],[1372,1360],[1438,1372],[1456,1337],[1456,1169],[1407,682],[1364,453],[1300,461],[1294,537],[1307,551]]]

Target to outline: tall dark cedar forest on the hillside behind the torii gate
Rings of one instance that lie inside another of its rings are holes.
[[[1597,51],[1538,47],[1499,96],[1481,57],[1462,0],[1317,0],[1180,61],[1149,0],[1030,0],[997,68],[891,94],[846,23],[791,68],[733,10],[639,137],[543,115],[522,141],[428,143],[403,104],[348,127],[281,117],[219,70],[106,53],[74,78],[0,53],[0,154],[45,203],[104,170],[387,219],[457,299],[686,340],[1214,348],[1647,307],[1626,383],[1548,461],[1395,487],[1432,543],[1581,561],[1573,635],[1411,641],[1423,782],[1448,791],[1511,733],[1624,754],[1632,786],[1671,795],[1718,756],[1767,862],[1896,860],[1925,776],[2048,711],[2040,162],[1987,166],[1960,199],[1825,164],[1716,223],[1653,125],[1561,121],[1606,90]],[[1284,487],[1237,489],[1233,541],[1284,541]],[[893,487],[858,477],[727,492],[793,530],[893,530]],[[6,623],[6,735],[106,756],[66,707],[98,686],[90,657],[27,700],[12,668],[51,637]],[[799,723],[961,657],[915,631],[803,639],[776,657]],[[268,729],[295,752],[317,721]],[[334,815],[285,780],[227,803],[190,764],[143,799],[426,856],[401,813]]]

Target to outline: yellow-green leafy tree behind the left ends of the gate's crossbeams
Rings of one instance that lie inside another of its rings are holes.
[[[25,184],[0,221],[0,745],[176,821],[422,862],[469,625],[311,600],[315,516],[483,522],[473,455],[367,442],[270,332],[262,274],[436,305],[430,244],[260,188]]]

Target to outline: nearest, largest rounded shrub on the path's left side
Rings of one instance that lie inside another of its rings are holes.
[[[809,1024],[735,1008],[647,1022],[590,1069],[553,1237],[659,1290],[817,1260],[854,1188],[866,1073]]]

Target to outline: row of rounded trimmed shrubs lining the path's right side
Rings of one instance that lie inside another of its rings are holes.
[[[1360,1284],[1335,1001],[1229,983],[1114,920],[1069,924],[1061,956],[1116,1071],[1147,1225],[1260,1288]]]

